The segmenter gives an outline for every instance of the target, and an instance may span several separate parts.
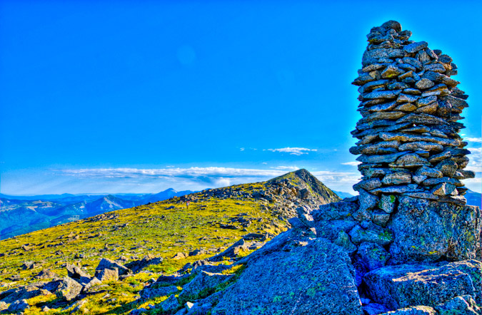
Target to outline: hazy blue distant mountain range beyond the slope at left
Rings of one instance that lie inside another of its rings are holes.
[[[157,194],[36,195],[0,194],[0,239],[53,227],[104,212],[146,205],[191,194],[172,188]]]

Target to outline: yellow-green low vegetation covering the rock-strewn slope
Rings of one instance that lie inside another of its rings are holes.
[[[256,183],[236,185],[230,189],[253,192],[263,187],[262,183]],[[156,278],[157,274],[171,274],[188,262],[211,257],[250,232],[278,234],[286,227],[286,223],[278,219],[278,214],[271,211],[273,202],[270,204],[256,198],[240,201],[239,198],[211,197],[204,192],[190,197],[189,207],[176,197],[1,241],[0,253],[4,256],[0,261],[0,282],[8,285],[1,287],[0,291],[39,281],[34,277],[42,269],[50,269],[64,277],[67,275],[66,263],[79,264],[94,275],[97,264],[104,257],[124,259],[126,263],[147,254],[163,257],[161,264],[145,268],[156,274],[140,273],[125,282],[103,284],[102,293],[89,296],[89,303],[84,305],[89,314],[126,314],[134,306],[157,304],[166,299],[164,296],[139,305],[131,304],[146,281]],[[239,217],[248,218],[250,224],[242,226],[232,220]],[[230,228],[221,228],[220,225]],[[27,250],[22,248],[23,245]],[[172,259],[178,252],[187,254],[195,249],[204,249],[208,254]],[[248,253],[241,252],[240,256]],[[22,269],[24,262],[28,261],[40,263],[40,266]],[[10,277],[14,275],[18,275],[20,280],[11,282]],[[106,294],[110,296],[104,301],[102,296]],[[54,294],[36,296],[29,300],[34,306],[26,314],[36,314],[41,306],[54,302],[59,302]],[[51,312],[69,314],[69,311],[59,309]]]

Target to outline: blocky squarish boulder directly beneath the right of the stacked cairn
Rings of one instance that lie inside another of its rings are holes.
[[[393,231],[391,264],[481,260],[481,210],[414,197],[398,198],[388,228]]]

